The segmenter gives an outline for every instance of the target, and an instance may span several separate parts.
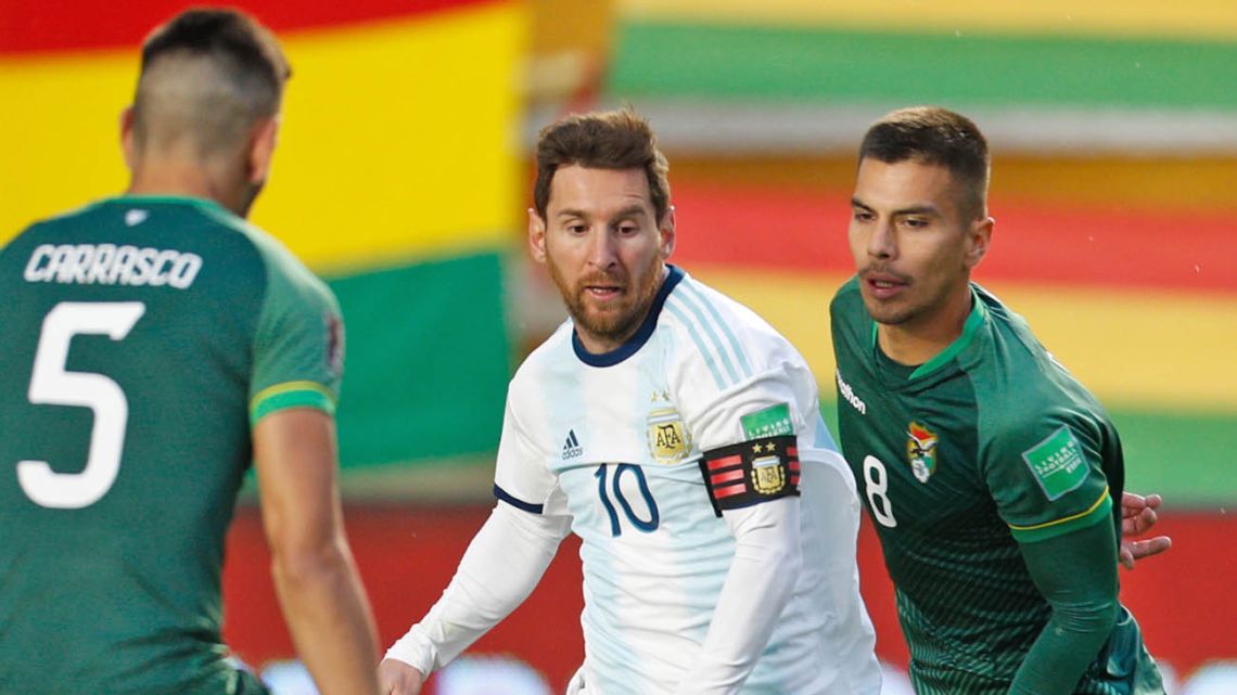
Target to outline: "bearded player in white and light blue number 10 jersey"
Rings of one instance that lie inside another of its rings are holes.
[[[875,695],[854,481],[798,351],[667,265],[666,158],[630,110],[537,143],[528,241],[570,313],[511,381],[499,502],[391,647],[408,695],[581,539],[588,695]]]

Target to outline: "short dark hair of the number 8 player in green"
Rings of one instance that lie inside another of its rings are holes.
[[[905,161],[945,167],[966,190],[964,211],[983,216],[987,209],[988,143],[961,114],[939,106],[898,109],[872,124],[858,147],[858,161]]]

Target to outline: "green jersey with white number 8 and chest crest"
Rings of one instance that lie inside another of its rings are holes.
[[[1117,432],[1021,317],[972,286],[962,334],[919,366],[880,349],[851,279],[830,305],[846,458],[881,539],[920,695],[1004,694],[1050,616],[1019,544],[1121,533]],[[1117,558],[1112,561],[1116,564]],[[1079,694],[1159,693],[1137,623]]]

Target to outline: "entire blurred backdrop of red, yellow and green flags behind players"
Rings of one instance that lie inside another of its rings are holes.
[[[0,4],[0,241],[122,189],[118,115],[178,0]],[[1230,0],[353,0],[239,2],[293,63],[254,220],[338,293],[349,533],[383,642],[445,586],[490,506],[506,380],[562,318],[526,261],[528,146],[570,109],[630,103],[662,135],[675,262],[768,318],[834,409],[826,304],[847,276],[854,148],[889,109],[972,115],[995,151],[977,279],[1108,406],[1128,487],[1175,538],[1123,600],[1184,681],[1237,658],[1237,7]],[[905,664],[875,537],[881,655]],[[291,654],[252,506],[228,636]],[[559,689],[583,654],[568,542],[475,653]]]

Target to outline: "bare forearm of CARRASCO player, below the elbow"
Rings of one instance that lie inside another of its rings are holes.
[[[346,545],[275,549],[272,575],[297,653],[323,695],[377,693],[377,638]]]

